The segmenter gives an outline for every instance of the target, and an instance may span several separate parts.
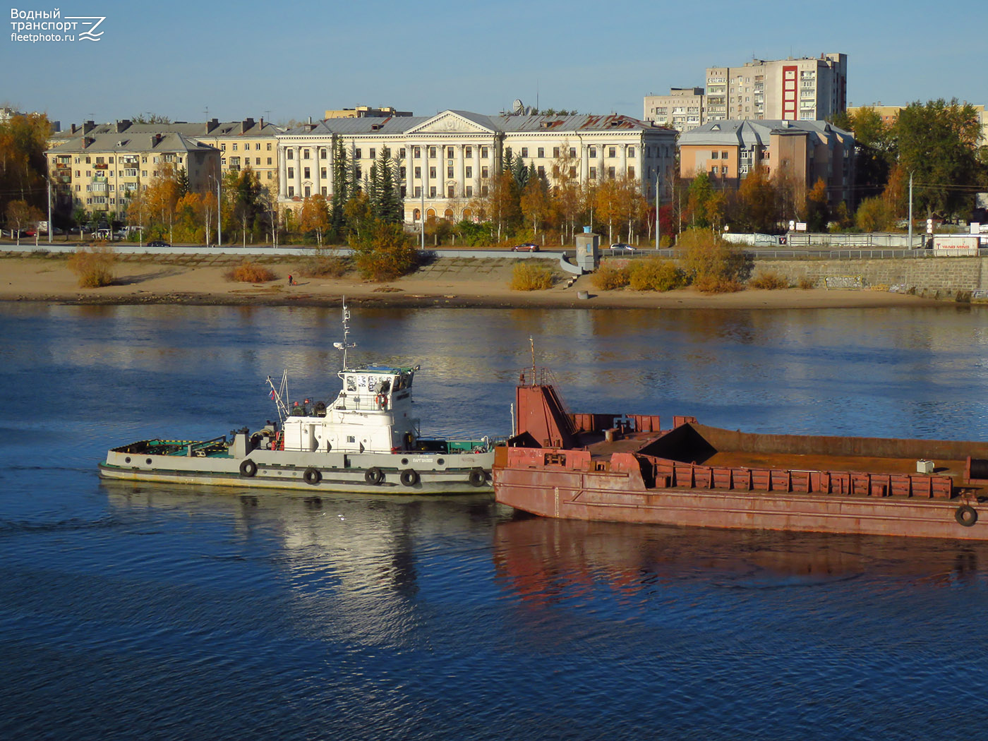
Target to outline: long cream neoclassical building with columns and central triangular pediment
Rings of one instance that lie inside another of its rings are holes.
[[[358,179],[386,147],[397,162],[405,221],[436,215],[472,217],[470,201],[487,195],[510,152],[545,174],[560,168],[581,183],[627,175],[655,198],[657,184],[672,182],[677,132],[626,116],[483,116],[444,111],[435,116],[327,119],[278,134],[279,201],[296,208],[307,196],[333,194],[338,142]],[[663,197],[667,191],[663,185]]]

